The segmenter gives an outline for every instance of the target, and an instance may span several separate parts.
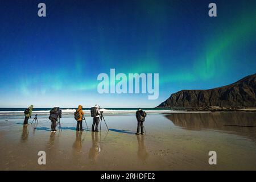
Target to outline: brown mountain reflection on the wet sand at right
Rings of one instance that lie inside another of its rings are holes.
[[[188,130],[224,130],[256,142],[256,113],[175,113],[166,115],[174,125]]]

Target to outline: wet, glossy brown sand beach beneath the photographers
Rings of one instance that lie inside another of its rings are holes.
[[[72,115],[51,133],[46,115],[24,127],[22,118],[0,119],[1,170],[255,170],[256,113],[150,113],[146,135],[135,135],[134,114],[105,115],[110,131],[77,132]],[[29,123],[32,122],[30,119]],[[57,129],[59,130],[59,129]],[[46,165],[38,152],[46,152]],[[217,152],[209,165],[208,152]]]

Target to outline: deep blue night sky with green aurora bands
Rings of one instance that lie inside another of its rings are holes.
[[[0,15],[0,107],[155,107],[256,72],[255,0],[10,0]],[[99,94],[97,76],[110,68],[159,73],[158,100]]]

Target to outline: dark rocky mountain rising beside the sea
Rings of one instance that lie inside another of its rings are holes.
[[[157,107],[256,107],[256,73],[227,86],[181,90]]]

